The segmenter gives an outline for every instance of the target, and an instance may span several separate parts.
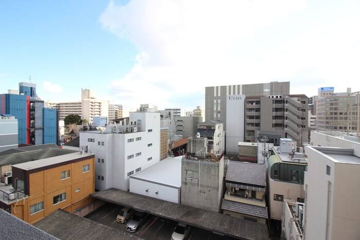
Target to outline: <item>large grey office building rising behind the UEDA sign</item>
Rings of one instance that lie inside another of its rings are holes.
[[[226,97],[230,95],[289,95],[290,82],[270,82],[205,88],[205,121],[220,120],[226,130]]]

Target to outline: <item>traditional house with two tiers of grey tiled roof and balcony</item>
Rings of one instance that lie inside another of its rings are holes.
[[[224,214],[266,224],[264,164],[228,161]]]

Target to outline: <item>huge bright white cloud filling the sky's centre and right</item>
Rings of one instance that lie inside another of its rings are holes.
[[[99,17],[103,28],[129,40],[139,53],[133,69],[110,88],[121,100],[159,108],[175,106],[172,99],[183,93],[205,98],[205,86],[214,85],[291,81],[291,94],[302,89],[311,95],[323,86],[317,83],[335,86],[346,78],[353,90],[360,88],[359,6],[322,5],[111,1]]]

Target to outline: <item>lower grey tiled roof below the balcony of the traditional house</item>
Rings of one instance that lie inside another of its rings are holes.
[[[221,209],[267,219],[266,207],[264,208],[260,206],[243,204],[242,202],[223,199]]]

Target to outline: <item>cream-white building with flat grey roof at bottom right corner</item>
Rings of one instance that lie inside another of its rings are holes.
[[[359,239],[359,155],[321,146],[306,146],[305,153],[304,239]]]

